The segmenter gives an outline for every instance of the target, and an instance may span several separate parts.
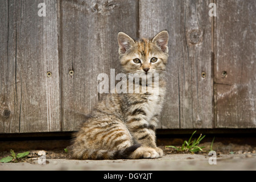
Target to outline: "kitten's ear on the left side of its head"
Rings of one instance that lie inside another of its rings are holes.
[[[119,51],[118,51],[119,55],[126,53],[131,48],[131,46],[135,44],[134,40],[130,38],[129,35],[123,32],[118,33],[117,39],[118,39],[118,45],[119,45]]]

